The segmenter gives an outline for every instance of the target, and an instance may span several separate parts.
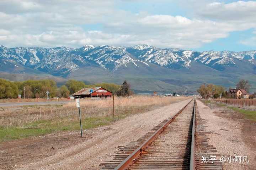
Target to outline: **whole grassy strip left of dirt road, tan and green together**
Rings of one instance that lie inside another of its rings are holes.
[[[186,99],[188,97],[116,98],[114,100],[115,120]],[[112,99],[81,99],[80,109],[84,129],[110,124],[113,121]],[[0,133],[2,131],[6,135],[0,135],[0,141],[1,138],[3,141],[20,138],[20,133],[23,133],[24,130],[26,137],[49,133],[54,130],[79,130],[78,117],[78,108],[76,108],[75,102],[63,105],[34,105],[1,110]]]

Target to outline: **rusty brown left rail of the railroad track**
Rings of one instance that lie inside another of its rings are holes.
[[[190,104],[193,101],[193,99],[188,103]],[[124,170],[129,168],[130,165],[133,164],[133,161],[135,161],[141,153],[143,153],[143,150],[149,146],[150,143],[154,141],[154,139],[157,137],[159,133],[165,130],[165,128],[177,117],[187,106],[184,106],[178,113],[176,113],[174,116],[172,116],[169,121],[167,121],[164,125],[162,125],[158,130],[156,130],[146,141],[144,141],[137,149],[135,149],[126,159],[124,159],[114,170]]]

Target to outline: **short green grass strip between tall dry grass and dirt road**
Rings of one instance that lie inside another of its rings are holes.
[[[144,108],[142,108],[144,107]],[[84,117],[82,116],[82,129],[90,129],[98,126],[108,125],[114,121],[124,119],[125,117],[136,114],[136,109],[148,111],[154,109],[154,106],[142,106],[132,110],[122,109],[116,110],[114,119],[113,116],[104,117]],[[79,117],[74,119],[73,116],[68,117],[55,117],[51,120],[38,120],[27,124],[24,127],[0,127],[0,142],[8,141],[11,139],[22,139],[30,136],[45,135],[54,131],[79,131],[80,121]]]

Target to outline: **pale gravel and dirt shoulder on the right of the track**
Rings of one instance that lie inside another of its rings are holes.
[[[206,130],[209,143],[215,147],[220,156],[234,158],[247,156],[249,163],[228,163],[224,170],[252,170],[256,169],[256,124],[244,119],[243,115],[226,108],[204,105],[197,100],[199,114],[206,120]]]

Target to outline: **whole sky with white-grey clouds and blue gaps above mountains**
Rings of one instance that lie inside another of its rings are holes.
[[[0,0],[0,21],[0,44],[9,48],[256,49],[256,1]]]

